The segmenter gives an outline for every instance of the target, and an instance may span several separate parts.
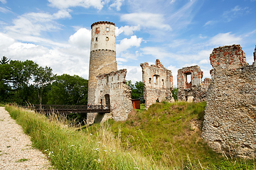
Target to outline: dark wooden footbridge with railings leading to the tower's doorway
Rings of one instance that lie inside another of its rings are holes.
[[[110,106],[87,106],[87,105],[33,105],[21,106],[31,108],[31,110],[43,113],[110,113]]]

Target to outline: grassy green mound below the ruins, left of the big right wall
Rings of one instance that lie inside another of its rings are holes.
[[[226,159],[203,142],[205,107],[205,102],[156,103],[147,111],[130,114],[125,122],[109,122],[116,136],[121,131],[124,148],[137,149],[157,164],[176,169],[255,169],[253,160]]]

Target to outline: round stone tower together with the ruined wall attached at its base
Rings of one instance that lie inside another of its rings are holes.
[[[117,70],[114,23],[92,23],[88,105],[107,105],[110,114],[87,113],[87,123],[92,124],[114,118],[125,120],[132,111],[131,91],[125,84],[126,70]]]

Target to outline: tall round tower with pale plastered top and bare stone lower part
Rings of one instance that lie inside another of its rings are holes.
[[[117,60],[114,23],[92,23],[91,29],[88,104],[95,104],[96,76],[117,71]]]

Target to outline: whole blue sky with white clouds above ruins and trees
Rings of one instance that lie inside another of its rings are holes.
[[[88,79],[90,26],[116,26],[117,67],[142,80],[140,63],[210,77],[213,48],[240,44],[252,64],[256,0],[0,0],[0,57],[33,60],[55,74]]]

